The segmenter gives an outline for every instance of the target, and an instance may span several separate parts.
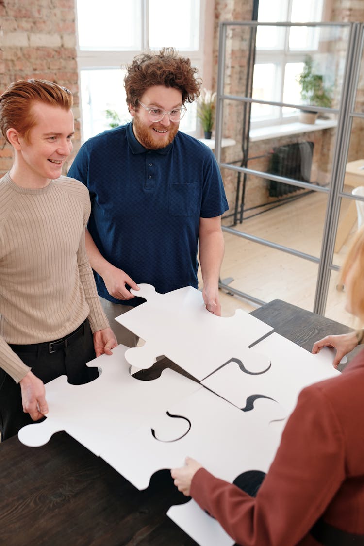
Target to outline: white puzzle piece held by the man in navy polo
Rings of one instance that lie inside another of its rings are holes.
[[[248,351],[271,333],[264,322],[240,309],[234,317],[217,317],[206,310],[201,292],[190,286],[167,294],[150,284],[139,286],[132,293],[147,301],[116,318],[146,342],[126,352],[131,365],[146,369],[165,355],[199,381],[231,358],[244,360],[252,372],[270,365],[269,358]]]

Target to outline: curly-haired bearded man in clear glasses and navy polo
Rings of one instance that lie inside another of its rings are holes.
[[[144,301],[129,288],[197,288],[198,250],[206,308],[221,314],[220,217],[228,204],[211,150],[178,131],[184,104],[200,94],[190,60],[173,48],[143,53],[124,84],[133,121],[83,144],[69,176],[89,189],[89,260],[117,340],[132,347],[134,334],[112,320]]]

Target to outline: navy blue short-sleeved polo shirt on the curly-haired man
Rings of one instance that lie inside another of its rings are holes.
[[[88,230],[106,260],[162,294],[198,287],[200,217],[228,210],[219,168],[207,146],[178,132],[162,150],[147,150],[130,122],[83,144],[68,176],[89,190]],[[103,298],[126,305],[144,301],[113,298],[102,277],[94,275]]]

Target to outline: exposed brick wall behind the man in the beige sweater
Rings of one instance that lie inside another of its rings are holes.
[[[80,114],[75,0],[0,0],[0,25],[0,93],[11,81],[28,78],[68,87],[74,97],[76,152]],[[0,176],[10,167],[11,146],[0,138]]]

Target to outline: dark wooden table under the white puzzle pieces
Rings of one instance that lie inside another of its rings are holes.
[[[308,350],[324,335],[350,331],[280,300],[252,314]],[[164,359],[158,366],[168,364]],[[169,471],[157,472],[148,489],[139,491],[65,432],[40,448],[23,446],[17,437],[0,444],[4,546],[196,545],[166,516],[182,502],[187,499]]]

